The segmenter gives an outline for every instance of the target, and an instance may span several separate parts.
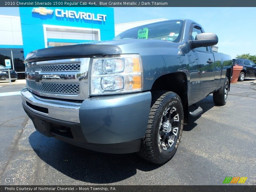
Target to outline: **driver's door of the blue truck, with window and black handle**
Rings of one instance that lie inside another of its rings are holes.
[[[191,25],[189,39],[194,40],[197,34],[204,31],[200,26]],[[190,60],[190,101],[195,103],[204,99],[214,83],[214,57],[210,47],[198,47],[189,52]]]

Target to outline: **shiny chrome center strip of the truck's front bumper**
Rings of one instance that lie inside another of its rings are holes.
[[[27,87],[21,91],[21,99],[23,105],[36,114],[62,121],[80,123],[79,108],[81,103],[40,98],[29,92]],[[48,113],[40,111],[40,107],[47,108]]]

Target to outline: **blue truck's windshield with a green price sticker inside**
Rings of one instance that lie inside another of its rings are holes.
[[[128,29],[114,38],[118,39],[156,39],[180,42],[183,20],[171,20]]]

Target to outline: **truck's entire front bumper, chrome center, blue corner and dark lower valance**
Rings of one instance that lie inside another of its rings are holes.
[[[106,153],[139,151],[151,103],[150,92],[71,102],[38,97],[24,88],[21,98],[40,133]]]

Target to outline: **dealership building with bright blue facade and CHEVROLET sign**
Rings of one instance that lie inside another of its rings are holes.
[[[20,7],[20,17],[0,15],[0,65],[10,59],[19,77],[25,76],[24,56],[36,49],[115,36],[111,7]]]

